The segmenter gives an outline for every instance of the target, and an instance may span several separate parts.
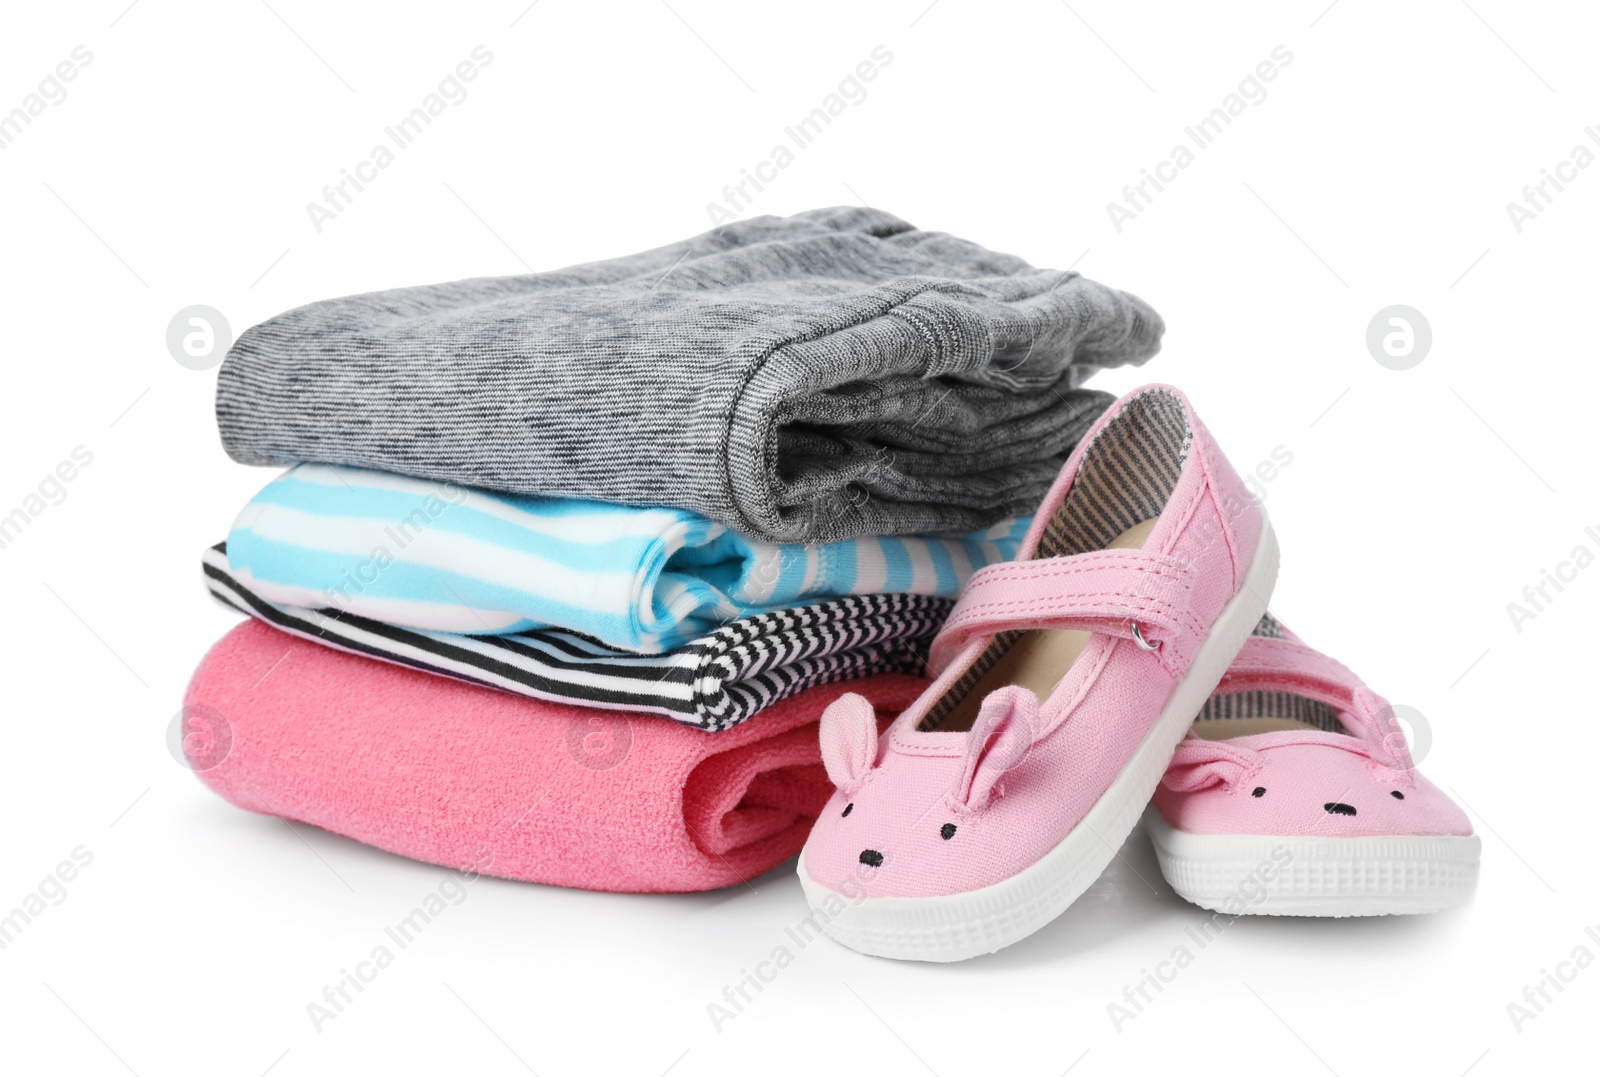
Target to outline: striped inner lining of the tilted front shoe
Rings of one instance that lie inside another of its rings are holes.
[[[1147,389],[1130,400],[1083,450],[1072,488],[1045,525],[1034,559],[1106,549],[1128,528],[1158,517],[1178,486],[1189,443],[1184,405],[1171,392]],[[1021,637],[1022,631],[997,634],[917,728],[939,728]]]

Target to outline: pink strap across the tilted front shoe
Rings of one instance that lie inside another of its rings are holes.
[[[1147,551],[1094,551],[989,565],[973,573],[933,642],[941,671],[971,640],[1026,629],[1080,629],[1158,643],[1163,664],[1186,667],[1206,632],[1192,610],[1195,570]]]

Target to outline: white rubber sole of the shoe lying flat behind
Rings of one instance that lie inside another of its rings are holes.
[[[1150,808],[1162,875],[1184,901],[1229,915],[1379,917],[1466,904],[1478,882],[1475,834],[1290,837],[1190,834]]]

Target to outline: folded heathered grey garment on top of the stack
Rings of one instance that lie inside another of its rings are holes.
[[[1030,512],[1157,352],[1162,318],[877,210],[314,302],[218,378],[245,464],[320,461],[693,509],[774,543],[970,531]]]

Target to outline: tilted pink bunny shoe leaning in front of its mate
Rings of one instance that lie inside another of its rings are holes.
[[[813,922],[883,957],[960,960],[1058,917],[1101,874],[1266,611],[1278,551],[1189,400],[1128,394],[979,570],[934,683],[878,736],[822,715],[838,791],[806,840]]]

